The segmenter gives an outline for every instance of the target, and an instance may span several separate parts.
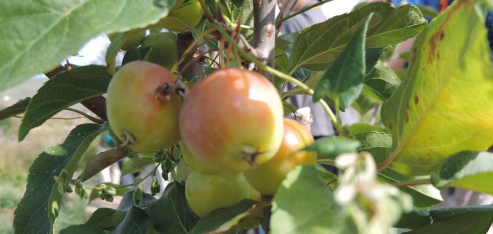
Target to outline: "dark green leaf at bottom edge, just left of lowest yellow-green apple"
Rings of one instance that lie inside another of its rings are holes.
[[[152,203],[149,216],[159,233],[188,233],[195,220],[185,199],[185,186],[169,183],[161,198]]]

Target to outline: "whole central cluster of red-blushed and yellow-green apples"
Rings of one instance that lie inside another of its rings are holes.
[[[111,129],[134,151],[179,144],[193,169],[185,196],[199,217],[243,199],[261,201],[290,170],[316,163],[316,153],[300,151],[312,135],[283,117],[277,89],[257,72],[220,69],[189,90],[163,66],[134,61],[115,73],[107,94]],[[261,216],[254,212],[240,225],[256,227]]]

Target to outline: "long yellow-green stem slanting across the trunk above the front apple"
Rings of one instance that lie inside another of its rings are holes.
[[[258,59],[254,58],[252,55],[246,53],[244,50],[242,50],[240,48],[240,46],[238,46],[238,44],[236,43],[236,41],[233,40],[233,38],[231,38],[229,36],[229,34],[223,28],[221,28],[219,25],[211,24],[211,26],[213,28],[215,28],[219,33],[221,33],[221,35],[226,39],[226,41],[228,41],[228,43],[231,43],[233,45],[233,47],[235,47],[238,50],[238,52],[240,52],[240,54],[244,58],[246,58],[249,61],[253,62],[260,69],[265,70],[265,71],[269,72],[270,74],[272,74],[274,76],[278,76],[279,78],[281,78],[281,79],[283,79],[285,81],[292,82],[292,83],[298,85],[300,88],[302,88],[303,90],[305,90],[305,92],[307,94],[309,94],[310,96],[313,96],[313,94],[314,94],[313,89],[311,89],[310,87],[308,87],[305,83],[297,80],[293,76],[284,74],[283,72],[281,72],[279,70],[276,70],[276,69],[274,69],[274,68],[272,68],[272,67],[270,67],[270,66],[268,66],[266,64],[263,64],[261,61],[259,61]],[[339,133],[343,134],[342,128],[341,128],[340,124],[337,122],[337,119],[335,118],[334,113],[332,112],[332,110],[330,110],[329,105],[323,99],[320,99],[319,102],[322,105],[322,107],[324,108],[324,110],[327,113],[327,115],[329,115],[330,120],[332,121],[332,124],[334,125],[335,129]]]

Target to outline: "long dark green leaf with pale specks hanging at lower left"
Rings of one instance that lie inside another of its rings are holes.
[[[60,207],[50,194],[58,194],[54,176],[63,169],[73,176],[75,166],[91,141],[108,125],[84,123],[75,127],[61,145],[53,146],[34,160],[27,177],[26,192],[14,212],[13,227],[16,233],[40,233],[50,231],[50,220],[58,215]],[[57,197],[58,200],[61,197]],[[48,203],[48,201],[51,201]],[[52,207],[53,210],[48,210]],[[50,217],[50,219],[48,218]]]

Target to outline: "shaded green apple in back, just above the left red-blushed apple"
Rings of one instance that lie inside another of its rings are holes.
[[[147,53],[146,61],[171,68],[178,59],[176,47],[176,35],[170,32],[149,34],[142,42],[142,47],[151,47]]]

